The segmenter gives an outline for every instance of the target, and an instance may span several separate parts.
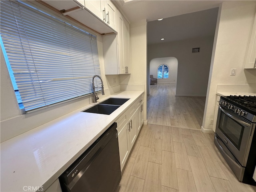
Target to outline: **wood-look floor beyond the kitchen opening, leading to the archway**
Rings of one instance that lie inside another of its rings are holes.
[[[201,129],[206,97],[175,96],[176,84],[150,85],[148,123]]]

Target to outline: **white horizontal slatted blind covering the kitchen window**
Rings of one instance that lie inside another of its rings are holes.
[[[100,75],[96,36],[24,2],[0,1],[0,8],[1,45],[20,108],[92,93],[92,77]]]

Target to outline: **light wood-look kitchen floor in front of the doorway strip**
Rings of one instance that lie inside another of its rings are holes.
[[[118,192],[254,192],[241,183],[200,130],[142,126],[122,174]]]

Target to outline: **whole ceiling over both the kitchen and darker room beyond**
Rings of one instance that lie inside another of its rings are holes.
[[[214,36],[222,0],[118,0],[130,23],[146,19],[148,44]],[[162,21],[157,21],[164,18]],[[161,41],[160,38],[165,38]]]

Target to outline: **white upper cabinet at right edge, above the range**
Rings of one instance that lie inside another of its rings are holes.
[[[252,26],[252,34],[250,37],[244,68],[256,68],[256,15],[254,18],[254,24]]]

